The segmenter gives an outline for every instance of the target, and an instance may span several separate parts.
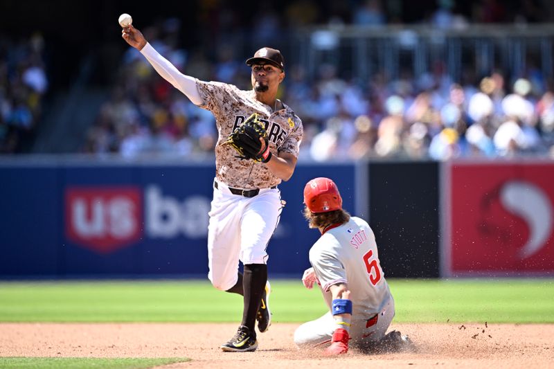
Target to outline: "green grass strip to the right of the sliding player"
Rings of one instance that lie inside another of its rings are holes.
[[[394,280],[396,322],[554,323],[554,280]]]

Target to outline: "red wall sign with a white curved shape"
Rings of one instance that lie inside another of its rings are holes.
[[[452,163],[445,276],[554,273],[554,163]]]

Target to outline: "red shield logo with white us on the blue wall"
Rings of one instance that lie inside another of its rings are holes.
[[[137,187],[68,188],[66,237],[98,253],[138,241],[143,233],[142,193]]]

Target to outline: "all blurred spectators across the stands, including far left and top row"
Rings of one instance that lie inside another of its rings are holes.
[[[251,89],[244,60],[254,50],[246,51],[247,45],[280,48],[304,26],[422,23],[463,28],[472,23],[553,21],[545,4],[546,0],[436,0],[425,6],[402,0],[283,0],[244,8],[235,1],[199,0],[191,10],[192,23],[181,24],[186,17],[175,17],[139,28],[184,73]],[[190,37],[187,48],[184,35]],[[113,39],[124,44],[118,35]],[[29,151],[22,147],[37,132],[48,91],[44,64],[41,35],[17,41],[0,35],[0,152]],[[315,161],[553,155],[554,87],[533,65],[528,62],[518,75],[502,70],[476,75],[467,66],[461,80],[452,80],[445,65],[436,62],[422,75],[413,75],[412,65],[406,65],[400,78],[381,70],[360,80],[324,62],[313,78],[312,70],[308,76],[305,66],[288,62],[278,97],[303,120],[301,157]],[[112,68],[109,64],[110,72]],[[160,78],[138,51],[125,52],[109,89],[110,97],[87,132],[82,152],[125,157],[213,154],[213,115]]]

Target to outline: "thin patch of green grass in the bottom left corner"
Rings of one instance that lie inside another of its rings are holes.
[[[172,363],[182,363],[190,359],[172,358],[118,358],[96,357],[0,357],[3,369],[142,369]]]

